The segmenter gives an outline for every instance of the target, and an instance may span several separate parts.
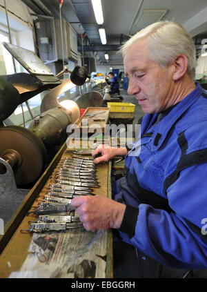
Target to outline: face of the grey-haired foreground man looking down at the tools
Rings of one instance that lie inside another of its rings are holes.
[[[124,57],[128,94],[135,95],[144,113],[157,113],[172,105],[173,66],[161,68],[148,57],[146,39],[137,41]]]

